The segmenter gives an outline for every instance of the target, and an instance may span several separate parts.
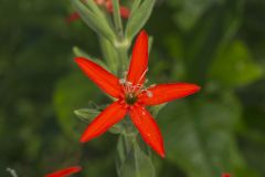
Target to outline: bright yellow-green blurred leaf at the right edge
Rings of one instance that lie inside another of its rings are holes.
[[[212,64],[210,79],[223,86],[242,86],[263,76],[263,70],[254,63],[247,46],[235,41]]]

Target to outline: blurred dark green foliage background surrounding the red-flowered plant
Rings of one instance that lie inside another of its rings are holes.
[[[1,177],[78,164],[82,177],[117,176],[117,136],[77,140],[86,123],[73,111],[107,98],[73,62],[74,45],[102,54],[93,31],[65,21],[71,12],[70,1],[0,0]],[[146,30],[149,80],[203,87],[159,113],[157,176],[265,177],[265,1],[160,0]]]

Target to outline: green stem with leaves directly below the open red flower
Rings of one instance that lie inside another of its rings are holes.
[[[155,177],[150,152],[139,142],[138,132],[128,116],[123,121],[123,127],[116,156],[118,177]]]

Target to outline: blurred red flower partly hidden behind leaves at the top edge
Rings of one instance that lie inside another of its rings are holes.
[[[85,0],[84,0],[85,1]],[[104,7],[108,12],[113,13],[113,2],[112,0],[94,0],[98,6]],[[120,6],[119,8],[120,15],[125,19],[129,17],[130,10],[126,7]],[[70,14],[70,17],[66,19],[67,22],[73,22],[75,20],[80,19],[80,14],[77,12],[74,12]]]

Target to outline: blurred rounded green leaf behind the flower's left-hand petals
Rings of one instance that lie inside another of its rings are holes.
[[[88,104],[89,100],[95,101],[99,95],[95,92],[94,84],[82,74],[82,72],[72,73],[62,79],[55,88],[53,103],[57,114],[57,121],[70,136],[80,137],[82,129],[86,127],[86,123],[78,121],[73,111]]]

